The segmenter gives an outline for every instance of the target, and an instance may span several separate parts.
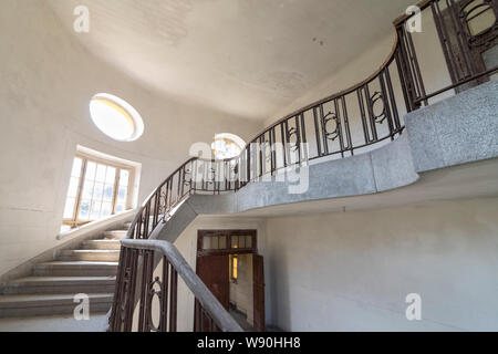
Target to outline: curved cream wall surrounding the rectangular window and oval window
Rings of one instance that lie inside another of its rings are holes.
[[[73,15],[69,13],[68,15]],[[0,6],[0,274],[56,246],[76,145],[142,164],[138,202],[188,158],[195,142],[260,124],[185,105],[97,61],[43,1]],[[98,92],[131,103],[145,121],[136,142],[103,135],[89,115]]]

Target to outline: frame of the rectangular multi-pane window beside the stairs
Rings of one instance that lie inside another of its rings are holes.
[[[120,164],[120,163],[108,160],[105,158],[101,158],[97,156],[93,156],[91,154],[85,154],[82,152],[77,152],[74,155],[73,164],[74,164],[75,158],[80,158],[82,160],[82,164],[81,164],[81,170],[80,170],[80,180],[77,183],[76,197],[75,197],[75,201],[74,201],[74,209],[73,209],[73,215],[71,218],[64,218],[64,216],[62,217],[62,226],[69,226],[69,227],[71,227],[71,229],[74,229],[74,228],[81,227],[83,225],[86,225],[89,222],[98,220],[98,219],[81,220],[77,218],[80,215],[83,186],[84,186],[84,181],[85,181],[86,167],[87,167],[89,163],[105,165],[107,167],[113,167],[116,169],[116,174],[114,177],[114,189],[113,189],[111,216],[116,215],[116,201],[117,201],[117,194],[118,194],[118,189],[120,189],[121,170],[128,171],[129,177],[128,177],[128,186],[127,186],[127,190],[126,190],[125,210],[132,209],[132,199],[133,199],[133,189],[134,189],[133,186],[135,184],[135,171],[136,171],[135,167],[125,165],[125,164]],[[66,201],[68,201],[68,192],[65,194],[64,202],[66,202]],[[64,204],[64,206],[65,206],[65,204]],[[65,209],[65,207],[64,207],[64,209]]]

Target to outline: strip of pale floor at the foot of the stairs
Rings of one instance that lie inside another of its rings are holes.
[[[0,332],[104,332],[105,313],[94,314],[89,321],[76,321],[73,315],[0,319]]]

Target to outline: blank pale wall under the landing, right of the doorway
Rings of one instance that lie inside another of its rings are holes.
[[[271,322],[288,331],[497,331],[498,198],[271,218]],[[405,296],[422,295],[421,322]]]

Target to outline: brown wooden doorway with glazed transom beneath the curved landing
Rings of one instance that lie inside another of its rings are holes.
[[[196,269],[243,330],[264,331],[264,269],[256,230],[199,230]]]

